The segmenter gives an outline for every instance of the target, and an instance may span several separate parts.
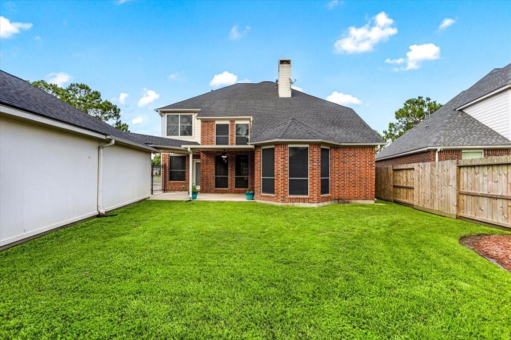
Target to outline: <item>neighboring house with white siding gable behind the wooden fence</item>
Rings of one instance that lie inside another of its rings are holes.
[[[376,155],[378,166],[511,154],[511,64],[496,68]]]

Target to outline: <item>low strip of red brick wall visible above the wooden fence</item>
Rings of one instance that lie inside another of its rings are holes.
[[[438,160],[444,161],[449,159],[461,159],[461,150],[462,149],[454,149],[454,150],[440,150],[438,153]],[[464,149],[468,150],[468,149]],[[422,163],[422,162],[434,162],[436,160],[435,150],[428,150],[419,152],[416,154],[385,159],[382,161],[376,161],[377,166],[385,166],[385,165],[397,165],[397,164],[410,164],[410,163]],[[511,149],[486,149],[483,150],[483,157],[490,156],[505,156],[511,155]]]

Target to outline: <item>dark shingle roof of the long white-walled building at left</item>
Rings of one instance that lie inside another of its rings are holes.
[[[148,144],[152,144],[153,140],[158,140],[159,145],[168,146],[179,144],[180,147],[182,143],[181,140],[134,134],[116,129],[2,70],[0,70],[0,103],[90,131],[125,139],[146,148]]]

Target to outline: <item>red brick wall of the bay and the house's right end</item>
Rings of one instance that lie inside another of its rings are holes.
[[[278,203],[320,203],[375,199],[373,147],[330,148],[330,194],[321,195],[321,147],[309,145],[309,196],[288,196],[288,144],[275,145],[275,195],[261,193],[261,147],[255,147],[255,199]]]

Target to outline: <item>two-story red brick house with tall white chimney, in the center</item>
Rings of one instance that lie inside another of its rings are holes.
[[[243,193],[280,204],[374,202],[378,134],[351,109],[291,88],[291,60],[278,81],[235,84],[156,110],[166,189]],[[156,145],[158,141],[154,141]]]

